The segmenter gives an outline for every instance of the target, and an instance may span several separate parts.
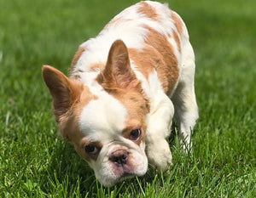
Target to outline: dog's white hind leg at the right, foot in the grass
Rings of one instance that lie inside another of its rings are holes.
[[[195,99],[195,55],[190,42],[183,45],[182,65],[172,102],[175,108],[175,117],[179,122],[180,139],[185,151],[192,149],[191,131],[198,118],[198,107]],[[183,141],[184,140],[184,141]]]

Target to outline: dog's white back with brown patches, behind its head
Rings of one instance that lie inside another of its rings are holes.
[[[141,2],[116,15],[96,38],[80,45],[70,76],[89,82],[88,71],[103,70],[112,43],[125,42],[131,67],[148,78],[154,69],[168,95],[177,85],[183,43],[189,39],[183,20],[167,5]],[[84,76],[84,77],[83,77]]]

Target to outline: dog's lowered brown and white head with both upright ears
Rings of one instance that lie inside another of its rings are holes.
[[[103,185],[146,173],[148,99],[131,70],[124,42],[109,50],[104,69],[90,86],[43,67],[61,136],[70,141]]]

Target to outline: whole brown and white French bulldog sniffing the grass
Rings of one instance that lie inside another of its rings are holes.
[[[79,46],[69,78],[49,65],[42,72],[61,136],[105,186],[143,176],[148,164],[172,165],[166,138],[174,116],[181,141],[191,145],[195,55],[167,4],[143,1],[116,15]]]

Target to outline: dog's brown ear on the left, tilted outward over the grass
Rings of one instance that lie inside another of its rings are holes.
[[[79,101],[84,86],[80,82],[68,79],[61,71],[49,65],[43,66],[42,73],[53,98],[56,122],[60,122],[60,117]]]

